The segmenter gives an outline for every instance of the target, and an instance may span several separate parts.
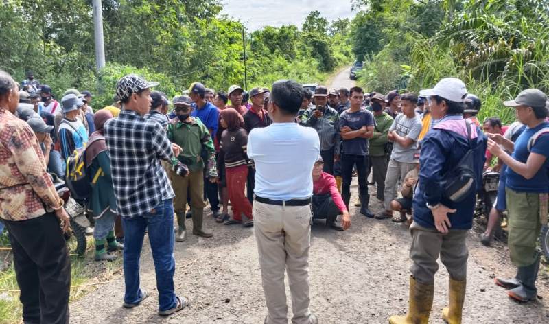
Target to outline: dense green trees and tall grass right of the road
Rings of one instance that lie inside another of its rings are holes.
[[[355,0],[353,51],[369,90],[417,91],[462,78],[480,117],[513,119],[502,100],[528,87],[549,93],[549,4],[544,0]],[[371,32],[367,33],[366,31]]]

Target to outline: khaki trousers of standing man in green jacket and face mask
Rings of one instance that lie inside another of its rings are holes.
[[[187,194],[191,195],[191,208],[202,209],[204,203],[204,176],[202,170],[191,171],[188,176],[178,176],[170,170],[168,173],[172,188],[176,197],[174,198],[174,211],[185,213],[187,210]]]

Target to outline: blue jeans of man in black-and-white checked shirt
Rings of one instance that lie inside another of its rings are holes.
[[[124,283],[126,303],[139,303],[143,298],[139,286],[139,258],[143,248],[145,229],[149,230],[149,242],[156,272],[156,289],[159,291],[159,309],[169,310],[177,305],[174,292],[174,205],[172,199],[164,200],[150,213],[132,218],[122,218],[124,227]]]

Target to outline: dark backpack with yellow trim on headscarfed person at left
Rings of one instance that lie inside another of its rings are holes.
[[[100,141],[104,137],[99,137],[89,142],[87,146],[90,146],[96,141]],[[88,172],[86,167],[86,148],[80,150],[74,150],[73,154],[67,158],[67,170],[65,176],[65,183],[71,191],[73,198],[78,200],[86,200],[91,197],[91,185],[97,182],[97,178],[102,174],[103,170],[100,167],[93,178]]]

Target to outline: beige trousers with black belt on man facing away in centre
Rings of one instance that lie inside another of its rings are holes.
[[[284,270],[292,294],[292,323],[309,324],[311,206],[253,203],[253,218],[268,324],[287,324]]]

